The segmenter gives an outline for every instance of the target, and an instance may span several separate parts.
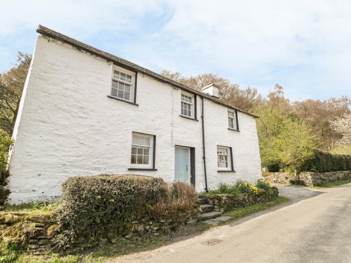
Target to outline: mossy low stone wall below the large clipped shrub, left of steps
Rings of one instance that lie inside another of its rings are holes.
[[[197,222],[201,217],[201,210],[194,215],[193,219],[184,223]],[[141,235],[145,232],[170,232],[177,228],[178,223],[171,219],[156,220],[134,220],[131,222],[130,231],[122,233],[123,238],[130,238],[133,234]],[[27,250],[32,254],[44,254],[48,251],[58,250],[55,237],[59,234],[57,225],[57,214],[55,212],[0,212],[0,242],[5,245],[15,244],[22,250]],[[118,238],[101,239],[97,242],[88,242],[84,239],[77,239],[71,243],[69,248],[81,249],[92,247],[106,242],[114,243]]]

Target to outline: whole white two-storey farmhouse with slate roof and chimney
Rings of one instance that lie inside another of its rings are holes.
[[[9,203],[54,200],[70,176],[143,174],[197,191],[261,178],[255,116],[39,26],[15,125]]]

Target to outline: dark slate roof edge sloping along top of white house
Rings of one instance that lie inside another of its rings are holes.
[[[204,98],[206,98],[208,100],[211,100],[211,101],[213,101],[213,102],[215,102],[217,104],[226,106],[226,107],[228,107],[230,109],[234,109],[234,110],[237,110],[239,112],[243,112],[243,113],[246,113],[246,114],[248,114],[250,116],[258,118],[257,116],[255,116],[255,115],[253,115],[251,113],[248,113],[246,111],[243,111],[243,110],[241,110],[241,109],[239,109],[239,108],[237,108],[237,107],[235,107],[235,106],[233,106],[231,104],[222,102],[221,100],[219,100],[219,99],[217,99],[217,98],[215,98],[215,97],[213,97],[213,96],[211,96],[209,94],[203,93],[203,92],[195,90],[193,88],[190,88],[190,87],[188,87],[186,85],[183,85],[183,84],[181,84],[181,83],[179,83],[177,81],[168,79],[168,78],[166,78],[166,77],[164,77],[164,76],[162,76],[160,74],[157,74],[157,73],[155,73],[153,71],[150,71],[148,69],[140,67],[139,65],[136,65],[136,64],[134,64],[134,63],[132,63],[130,61],[127,61],[125,59],[119,58],[117,56],[114,56],[114,55],[112,55],[110,53],[107,53],[107,52],[104,52],[102,50],[96,49],[96,48],[94,48],[92,46],[89,46],[89,45],[84,44],[82,42],[79,42],[79,41],[77,41],[75,39],[67,37],[67,36],[65,36],[65,35],[63,35],[61,33],[58,33],[56,31],[53,31],[53,30],[51,30],[49,28],[46,28],[46,27],[44,27],[42,25],[39,25],[39,27],[37,29],[37,32],[39,34],[44,35],[44,36],[47,36],[47,37],[50,37],[50,38],[54,38],[54,39],[57,39],[57,40],[62,41],[64,43],[67,43],[67,44],[77,48],[78,50],[86,51],[86,52],[88,52],[88,53],[90,53],[92,55],[101,57],[103,59],[106,59],[107,61],[111,61],[111,62],[113,62],[114,64],[116,64],[118,66],[124,67],[124,68],[129,69],[129,70],[134,71],[134,72],[140,72],[140,73],[142,73],[144,75],[147,75],[147,76],[150,76],[150,77],[152,77],[152,78],[154,78],[154,79],[156,79],[156,80],[158,80],[160,82],[167,83],[167,84],[169,84],[171,86],[180,88],[180,89],[182,89],[184,91],[188,91],[188,92],[191,92],[193,94],[196,94],[196,95],[199,95],[201,97],[204,97]]]

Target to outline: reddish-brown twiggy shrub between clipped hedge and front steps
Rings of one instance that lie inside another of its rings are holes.
[[[153,218],[167,217],[177,222],[190,219],[198,208],[198,193],[191,184],[169,183],[164,197],[159,196],[158,202],[152,207]]]

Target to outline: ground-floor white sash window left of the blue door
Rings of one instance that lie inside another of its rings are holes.
[[[153,163],[154,146],[155,146],[154,135],[133,132],[130,167],[141,168],[141,169],[143,168],[154,169],[154,163]]]

